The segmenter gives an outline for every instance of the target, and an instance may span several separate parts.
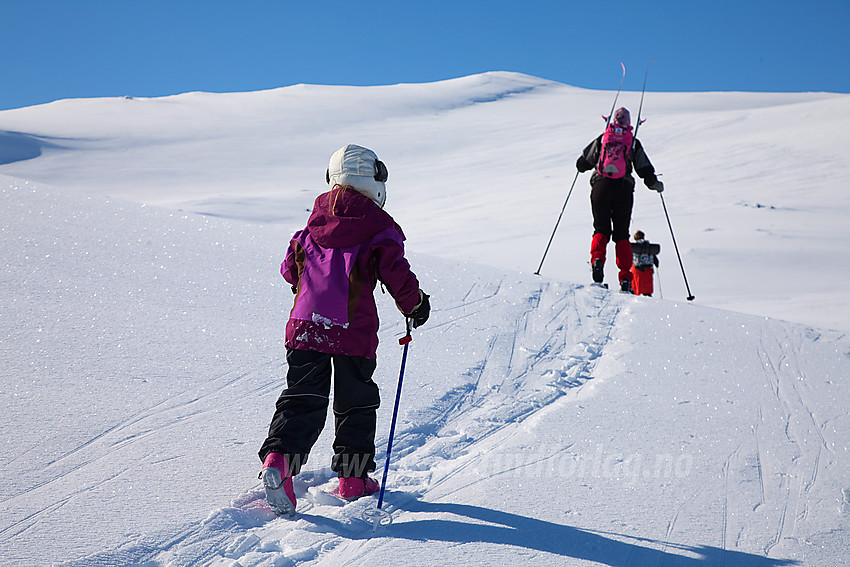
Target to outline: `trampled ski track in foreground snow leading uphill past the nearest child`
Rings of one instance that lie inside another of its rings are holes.
[[[504,443],[527,418],[592,380],[594,366],[611,338],[612,323],[622,305],[607,290],[564,285],[553,289],[548,283],[532,286],[523,304],[511,305],[503,302],[501,289],[501,282],[476,285],[457,303],[442,308],[456,319],[465,318],[470,310],[502,309],[506,312],[505,324],[489,329],[482,364],[458,373],[469,381],[447,392],[398,431],[384,506],[396,516],[415,514],[398,510],[404,502],[415,498],[438,500],[465,488],[446,489],[454,477],[486,458],[488,447]],[[435,315],[432,328],[447,324]],[[218,389],[239,379],[219,377],[223,384]],[[125,437],[122,431],[158,412],[176,412],[197,402],[187,399],[164,409],[150,408],[91,443],[116,442]],[[491,476],[539,464],[569,448],[494,471]],[[379,445],[378,473],[382,472],[384,456]],[[456,462],[461,459],[463,462]],[[451,466],[440,466],[446,463]],[[443,470],[448,472],[440,472]],[[333,562],[330,557],[334,551],[362,545],[361,540],[372,536],[372,526],[361,519],[361,514],[368,506],[374,507],[368,498],[342,506],[324,494],[333,482],[327,470],[299,475],[295,482],[298,516],[294,520],[275,518],[256,484],[231,506],[212,512],[204,521],[177,534],[148,535],[119,549],[62,565],[287,566],[323,564],[323,558]]]

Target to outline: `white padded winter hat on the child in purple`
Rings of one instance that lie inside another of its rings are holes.
[[[372,150],[348,144],[331,156],[325,180],[331,187],[348,185],[379,207],[387,201],[387,168]]]

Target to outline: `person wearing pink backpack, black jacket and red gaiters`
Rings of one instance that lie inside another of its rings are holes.
[[[590,177],[590,203],[593,211],[593,240],[590,245],[590,264],[593,281],[604,279],[605,251],[613,238],[617,267],[620,269],[620,289],[632,291],[632,250],[629,243],[629,224],[634,204],[635,179],[632,169],[644,184],[658,191],[664,184],[655,175],[643,146],[632,137],[631,117],[626,108],[618,108],[598,138],[593,140],[576,161],[579,172],[596,168]]]

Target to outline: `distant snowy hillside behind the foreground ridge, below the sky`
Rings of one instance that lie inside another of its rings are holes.
[[[0,112],[0,174],[295,229],[328,156],[359,143],[387,163],[387,206],[416,250],[533,273],[576,157],[612,98],[485,73],[424,85],[66,100]],[[639,100],[620,96],[635,115]],[[829,93],[648,94],[639,138],[663,174],[702,305],[850,330],[848,107],[850,97]],[[577,179],[545,274],[588,279],[588,178]],[[687,297],[661,201],[642,185],[632,228],[662,245],[663,295]]]

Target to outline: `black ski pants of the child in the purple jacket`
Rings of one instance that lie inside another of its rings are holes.
[[[334,457],[339,476],[365,477],[375,470],[375,427],[381,399],[372,381],[376,362],[360,356],[287,348],[286,389],[281,392],[260,449],[260,459],[281,453],[298,474],[325,425],[334,383]]]

